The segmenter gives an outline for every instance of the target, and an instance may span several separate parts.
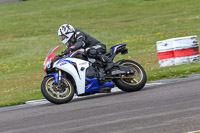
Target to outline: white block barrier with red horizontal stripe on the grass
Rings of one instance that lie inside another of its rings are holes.
[[[157,41],[160,67],[200,61],[197,36],[186,36]]]

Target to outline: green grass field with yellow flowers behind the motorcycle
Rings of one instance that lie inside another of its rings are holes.
[[[148,81],[200,73],[200,63],[159,68],[156,41],[200,36],[199,0],[29,0],[0,5],[0,106],[43,98],[43,60],[61,45],[64,23],[93,35],[107,49],[127,43],[128,58]],[[64,46],[62,46],[64,49]],[[60,50],[61,51],[61,50]]]

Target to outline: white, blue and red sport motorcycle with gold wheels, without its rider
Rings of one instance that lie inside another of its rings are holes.
[[[74,94],[86,96],[95,93],[110,93],[117,86],[125,92],[141,90],[147,76],[143,67],[132,60],[119,60],[105,72],[105,63],[89,58],[84,49],[58,57],[54,54],[60,46],[52,48],[43,65],[47,75],[41,84],[43,96],[55,104],[70,102]],[[114,60],[117,54],[126,54],[126,44],[115,45],[105,54]]]

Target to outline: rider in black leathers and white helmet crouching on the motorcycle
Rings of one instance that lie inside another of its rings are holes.
[[[83,48],[89,57],[107,64],[105,71],[113,67],[112,60],[104,55],[106,53],[106,46],[82,30],[74,29],[70,24],[63,24],[58,29],[58,36],[60,36],[62,43],[67,46],[67,49],[61,55],[67,55],[70,52]]]

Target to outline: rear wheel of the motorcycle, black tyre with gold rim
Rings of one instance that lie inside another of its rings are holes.
[[[146,84],[147,80],[146,72],[142,66],[132,60],[120,60],[118,63],[122,66],[130,66],[135,73],[120,75],[121,78],[114,79],[116,86],[125,92],[141,90]]]

